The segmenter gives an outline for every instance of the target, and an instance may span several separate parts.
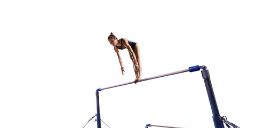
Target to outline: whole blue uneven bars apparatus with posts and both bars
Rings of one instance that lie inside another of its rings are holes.
[[[159,75],[159,76],[154,76],[154,77],[149,77],[149,78],[141,79],[140,82],[147,81],[147,80],[150,80],[150,79],[159,78],[159,77],[164,77],[164,76],[170,76],[170,75],[174,75],[174,74],[185,73],[187,71],[194,72],[194,71],[198,71],[200,69],[202,69],[201,73],[202,73],[202,76],[203,76],[203,79],[204,79],[206,91],[207,91],[208,98],[209,98],[209,101],[210,101],[210,105],[211,105],[211,109],[212,109],[212,114],[213,114],[212,118],[213,118],[213,123],[214,123],[215,128],[224,128],[224,125],[223,125],[224,123],[226,124],[226,126],[228,128],[231,128],[231,126],[233,126],[233,128],[239,128],[237,125],[227,121],[227,117],[226,116],[220,116],[219,109],[218,109],[217,102],[216,102],[215,95],[214,95],[213,88],[212,88],[212,83],[211,83],[211,79],[210,79],[209,70],[206,69],[206,66],[198,66],[197,65],[197,66],[189,67],[188,69],[185,69],[185,70],[175,71],[175,72],[169,73],[169,74],[163,74],[163,75]],[[106,89],[111,89],[113,87],[123,86],[123,85],[127,85],[127,84],[132,84],[132,83],[134,83],[134,82],[118,84],[118,85],[115,85],[115,86],[109,86],[109,87],[100,88],[100,89],[96,90],[97,114],[95,114],[95,116],[97,116],[97,128],[101,128],[99,91],[106,90]],[[151,124],[147,124],[146,128],[148,126],[179,128],[179,127],[151,125]]]

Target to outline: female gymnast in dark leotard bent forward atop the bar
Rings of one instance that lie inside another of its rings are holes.
[[[142,66],[141,66],[141,62],[140,62],[140,47],[138,43],[129,41],[126,38],[121,38],[118,39],[116,38],[116,36],[111,32],[111,34],[108,36],[108,41],[111,45],[114,46],[114,50],[117,54],[117,57],[119,59],[119,63],[121,66],[121,70],[122,70],[122,75],[124,75],[125,70],[123,67],[123,61],[121,59],[121,56],[119,54],[119,50],[124,50],[127,48],[130,58],[132,60],[133,63],[133,69],[134,69],[134,73],[135,73],[135,81],[134,83],[136,84],[137,82],[139,82],[141,80],[141,71],[142,71]]]

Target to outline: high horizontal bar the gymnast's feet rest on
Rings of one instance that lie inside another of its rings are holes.
[[[197,65],[197,66],[189,67],[188,69],[185,69],[185,70],[175,71],[175,72],[169,73],[169,74],[163,74],[163,75],[158,75],[158,76],[154,76],[154,77],[141,79],[140,82],[147,81],[149,79],[155,79],[155,78],[159,78],[159,77],[170,76],[170,75],[179,74],[179,73],[185,73],[187,71],[190,71],[190,72],[198,71],[201,68],[206,68],[206,67]],[[128,83],[124,83],[124,84],[118,84],[118,85],[115,85],[115,86],[104,87],[104,88],[97,89],[96,91],[98,92],[98,91],[101,91],[101,90],[106,90],[106,89],[110,89],[110,88],[113,88],[113,87],[123,86],[123,85],[127,85],[127,84],[132,84],[132,83],[134,83],[134,82],[128,82]]]

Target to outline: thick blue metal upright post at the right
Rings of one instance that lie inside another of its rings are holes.
[[[215,99],[215,95],[214,95],[214,92],[212,89],[212,83],[211,83],[211,79],[210,79],[209,70],[203,69],[201,71],[201,73],[204,78],[206,91],[207,91],[209,101],[211,104],[212,114],[213,114],[212,118],[213,118],[215,128],[224,128],[223,122],[221,121],[221,117],[220,117],[219,109],[218,109],[217,102]]]

